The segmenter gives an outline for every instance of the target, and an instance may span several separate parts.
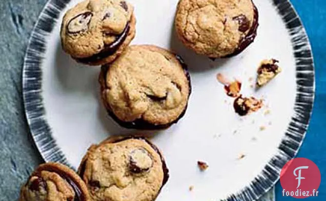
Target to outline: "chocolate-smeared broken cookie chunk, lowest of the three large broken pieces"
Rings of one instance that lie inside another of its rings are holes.
[[[262,100],[258,100],[254,97],[242,97],[242,95],[238,96],[233,102],[234,110],[240,116],[245,116],[252,111],[257,111],[262,105]]]

